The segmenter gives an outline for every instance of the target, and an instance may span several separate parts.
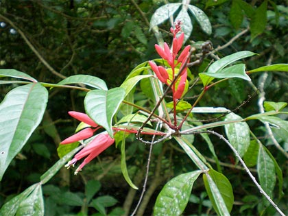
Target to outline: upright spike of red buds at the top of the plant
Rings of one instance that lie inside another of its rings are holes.
[[[174,77],[177,75],[175,73],[175,71],[176,71],[175,69],[178,66],[178,64],[180,64],[180,70],[179,71],[182,71],[182,72],[180,74],[180,77],[178,77],[178,80],[176,80],[176,82],[174,82],[174,84],[172,86],[174,99],[180,99],[183,92],[184,92],[185,84],[187,81],[187,67],[182,69],[182,66],[183,66],[183,63],[187,60],[187,58],[189,58],[189,50],[191,47],[190,45],[185,47],[183,49],[182,53],[180,54],[180,56],[178,56],[178,52],[180,51],[182,44],[183,44],[183,40],[184,40],[184,33],[183,32],[180,34],[180,36],[178,38],[176,37],[178,32],[180,32],[180,30],[181,30],[180,24],[181,23],[178,22],[178,23],[176,23],[175,29],[173,29],[172,27],[170,29],[170,32],[173,34],[173,45],[172,45],[171,49],[169,48],[167,43],[164,43],[164,49],[162,47],[160,47],[159,45],[155,45],[155,49],[156,49],[157,53],[159,54],[159,56],[161,56],[163,59],[167,60],[168,64],[170,65],[171,71],[172,71],[172,76],[169,77],[169,73],[168,73],[167,69],[165,69],[165,67],[157,66],[154,62],[149,61],[150,67],[152,68],[152,70],[154,71],[154,73],[156,74],[156,76],[158,77],[160,82],[163,82],[167,85],[169,85],[172,82],[172,80],[174,79]],[[177,56],[178,56],[178,58],[176,60]],[[188,59],[188,61],[189,61],[189,59]],[[177,89],[176,89],[176,83],[178,83]]]

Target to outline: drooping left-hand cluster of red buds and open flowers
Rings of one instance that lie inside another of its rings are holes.
[[[82,121],[86,123],[87,125],[91,126],[88,128],[85,128],[81,130],[80,132],[77,132],[73,136],[70,136],[69,138],[62,141],[60,144],[69,144],[74,143],[77,141],[82,141],[84,139],[88,139],[91,136],[93,136],[94,132],[101,128],[97,123],[95,123],[88,115],[82,112],[74,112],[70,111],[68,112],[71,117]],[[103,152],[105,149],[107,149],[110,145],[114,143],[115,139],[112,139],[107,132],[98,134],[95,136],[93,141],[88,143],[83,149],[81,149],[80,152],[75,154],[74,158],[65,165],[65,167],[71,167],[75,165],[77,160],[81,160],[82,158],[86,157],[82,164],[76,169],[75,174],[77,174],[87,163],[89,163],[91,160],[93,160],[95,157],[97,157],[101,152]]]

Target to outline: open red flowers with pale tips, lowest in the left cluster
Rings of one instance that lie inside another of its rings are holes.
[[[93,160],[95,157],[97,157],[101,152],[103,152],[105,149],[107,149],[110,145],[114,143],[115,139],[112,139],[108,133],[102,133],[98,134],[93,141],[88,143],[86,147],[81,149],[80,152],[75,154],[74,158],[65,165],[65,167],[71,167],[71,165],[74,167],[77,160],[81,160],[82,158],[86,157],[82,164],[77,167],[74,174],[76,175],[79,171],[82,170],[82,168],[91,160]]]

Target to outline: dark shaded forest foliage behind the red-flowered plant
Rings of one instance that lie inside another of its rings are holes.
[[[193,21],[195,25],[187,44],[197,47],[202,41],[211,40],[215,48],[214,56],[208,56],[200,67],[191,69],[193,75],[202,72],[215,56],[221,58],[241,50],[259,53],[246,60],[248,70],[287,62],[287,1],[267,1],[267,11],[261,8],[263,1],[247,1],[245,8],[241,8],[239,2],[190,2],[206,13],[213,31],[210,35],[205,34],[200,25]],[[41,82],[57,83],[70,75],[88,74],[105,80],[108,87],[119,86],[137,64],[158,58],[154,50],[157,40],[149,31],[149,21],[155,10],[165,3],[167,1],[1,0],[0,67],[23,71]],[[257,19],[249,8],[257,9]],[[266,22],[262,22],[263,20]],[[170,23],[165,22],[159,27],[165,40],[170,41]],[[242,116],[248,116],[259,112],[261,93],[265,94],[267,101],[288,101],[287,73],[251,76],[254,86],[262,88],[236,113],[241,112]],[[3,99],[5,93],[13,87],[1,85],[0,98]],[[254,92],[254,87],[247,82],[231,80],[215,86],[213,91],[205,95],[203,104],[200,105],[225,106],[233,110],[248,99],[246,95]],[[139,93],[138,97],[141,101],[143,95]],[[84,95],[74,90],[53,89],[50,92],[43,122],[3,176],[0,205],[38,182],[39,177],[56,163],[60,141],[73,134],[77,126],[77,122],[71,120],[67,111],[83,112],[83,99]],[[287,158],[273,145],[261,123],[251,121],[249,124],[256,131],[256,136],[272,152],[283,171],[283,191],[286,193],[279,200],[276,198],[276,202],[287,213]],[[223,133],[220,129],[217,130]],[[210,152],[202,142],[195,137],[195,147],[213,163]],[[235,206],[232,215],[276,214],[274,208],[263,211],[261,194],[248,176],[245,176],[245,171],[235,165],[232,152],[218,139],[213,143],[225,176],[233,187]],[[129,172],[134,183],[141,188],[148,147],[134,140],[126,145]],[[281,145],[287,152],[288,141],[282,141]],[[62,169],[58,176],[43,187],[45,215],[131,213],[140,193],[125,182],[119,161],[119,149],[110,147],[77,176],[73,176],[73,171]],[[173,176],[194,169],[189,158],[172,142],[155,145],[147,192],[137,215],[151,215],[156,196],[165,182]],[[95,189],[92,197],[89,192],[91,188]],[[211,212],[211,203],[204,191],[202,182],[195,182],[193,195],[184,215],[206,215]],[[278,197],[277,188],[275,194]],[[85,200],[91,200],[90,207]]]

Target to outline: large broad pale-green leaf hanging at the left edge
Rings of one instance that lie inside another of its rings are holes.
[[[0,180],[42,120],[47,99],[46,88],[32,83],[14,88],[1,102]]]

